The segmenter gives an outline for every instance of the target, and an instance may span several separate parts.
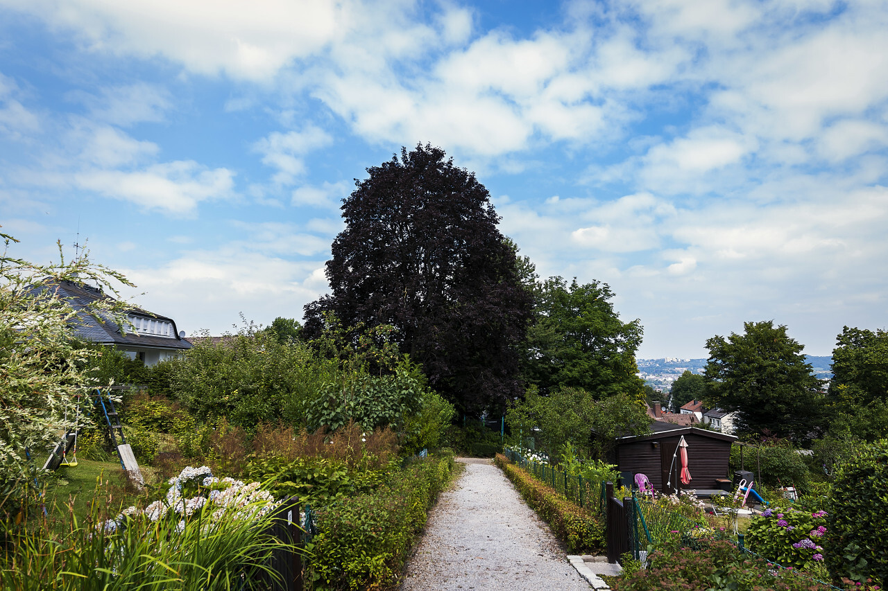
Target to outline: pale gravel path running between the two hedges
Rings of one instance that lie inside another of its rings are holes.
[[[558,542],[489,460],[441,493],[401,591],[586,591]]]

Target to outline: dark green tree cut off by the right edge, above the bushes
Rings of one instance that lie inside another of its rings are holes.
[[[888,436],[888,332],[844,327],[832,370],[830,431],[868,441]]]

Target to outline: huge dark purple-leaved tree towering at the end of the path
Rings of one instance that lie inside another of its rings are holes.
[[[401,150],[343,202],[332,294],[305,306],[305,333],[324,313],[345,326],[389,324],[400,350],[464,412],[520,396],[519,344],[531,300],[484,185],[432,146]]]

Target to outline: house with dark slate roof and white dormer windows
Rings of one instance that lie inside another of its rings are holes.
[[[76,319],[71,322],[75,335],[84,341],[114,346],[131,359],[140,359],[146,366],[176,358],[191,349],[185,331],[179,332],[171,318],[131,308],[127,311],[131,326],[120,327],[109,314],[99,313],[96,318],[87,312],[91,303],[108,299],[101,289],[75,281],[60,281],[35,289],[47,288],[56,291],[77,312]]]

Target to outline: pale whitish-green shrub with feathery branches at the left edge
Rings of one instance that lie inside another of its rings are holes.
[[[66,261],[59,244],[58,263],[34,264],[10,255],[19,240],[4,233],[0,239],[0,483],[10,483],[26,466],[26,449],[58,440],[74,422],[77,395],[94,385],[90,372],[99,350],[74,338],[79,315],[125,326],[127,304],[117,299],[115,284],[132,284],[92,264],[88,252]],[[54,289],[62,281],[89,283],[115,297],[75,310]]]

